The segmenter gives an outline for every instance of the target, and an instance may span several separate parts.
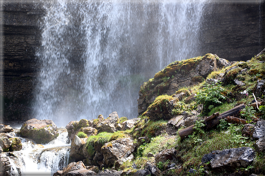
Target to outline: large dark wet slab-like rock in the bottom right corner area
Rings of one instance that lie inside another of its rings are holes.
[[[254,158],[255,151],[250,147],[232,148],[220,151],[210,163],[213,170],[234,171],[249,166]]]

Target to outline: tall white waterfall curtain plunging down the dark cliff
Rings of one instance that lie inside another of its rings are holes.
[[[140,85],[200,54],[208,1],[43,1],[33,116],[57,126],[113,111],[136,118]]]

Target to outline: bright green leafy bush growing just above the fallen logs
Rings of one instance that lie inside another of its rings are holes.
[[[226,97],[222,95],[225,89],[219,84],[204,84],[204,87],[197,92],[197,105],[202,107],[201,115],[207,114],[212,108],[223,104]]]

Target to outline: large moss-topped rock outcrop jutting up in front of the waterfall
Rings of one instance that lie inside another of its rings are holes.
[[[225,62],[219,62],[220,60],[217,55],[207,54],[168,65],[155,74],[154,79],[141,86],[138,99],[139,115],[142,115],[159,95],[173,95],[181,87],[198,84],[212,71],[227,65],[227,61],[222,59]]]

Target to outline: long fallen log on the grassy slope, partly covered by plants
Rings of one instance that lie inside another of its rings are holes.
[[[217,125],[220,124],[220,120],[222,118],[226,118],[227,116],[234,116],[234,117],[239,117],[240,110],[245,108],[244,104],[238,105],[228,111],[225,111],[224,113],[219,115],[219,112],[212,114],[211,116],[207,117],[204,119],[204,130],[210,130]],[[178,131],[178,134],[181,138],[181,140],[188,138],[189,135],[191,135],[195,130],[193,129],[194,125],[189,126],[183,130]]]

